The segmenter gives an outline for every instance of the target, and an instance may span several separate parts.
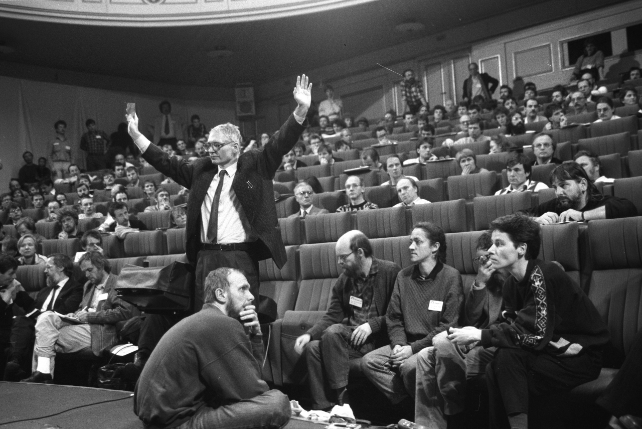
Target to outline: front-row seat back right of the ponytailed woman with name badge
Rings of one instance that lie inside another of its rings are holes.
[[[446,264],[455,268],[462,276],[464,296],[477,275],[473,259],[477,256],[477,240],[482,234],[483,231],[446,234]]]

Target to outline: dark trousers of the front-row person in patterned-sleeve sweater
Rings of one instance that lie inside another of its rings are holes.
[[[528,398],[554,390],[570,390],[595,380],[601,365],[596,358],[557,358],[523,349],[498,349],[486,367],[490,428],[508,428],[510,415],[528,414]]]

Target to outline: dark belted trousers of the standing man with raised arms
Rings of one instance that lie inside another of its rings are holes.
[[[253,259],[245,250],[201,250],[196,258],[194,293],[194,311],[200,311],[203,306],[203,286],[207,274],[216,268],[228,267],[241,270],[250,283],[250,293],[254,296],[254,304],[259,308],[259,261]]]

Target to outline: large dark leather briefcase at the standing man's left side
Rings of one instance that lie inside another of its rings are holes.
[[[194,275],[189,265],[166,267],[126,265],[117,282],[118,297],[146,313],[189,311],[194,301]]]

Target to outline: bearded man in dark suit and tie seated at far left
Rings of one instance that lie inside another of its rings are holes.
[[[26,302],[19,304],[24,313],[15,313],[11,331],[12,349],[5,369],[8,381],[18,381],[21,375],[27,375],[24,366],[31,356],[31,344],[35,338],[34,327],[40,313],[56,311],[61,314],[71,313],[78,309],[82,300],[82,285],[73,278],[74,265],[69,256],[55,253],[49,255],[44,273],[47,286],[42,288],[35,299],[27,297]],[[47,378],[51,380],[51,376]],[[45,381],[45,380],[42,380]]]

